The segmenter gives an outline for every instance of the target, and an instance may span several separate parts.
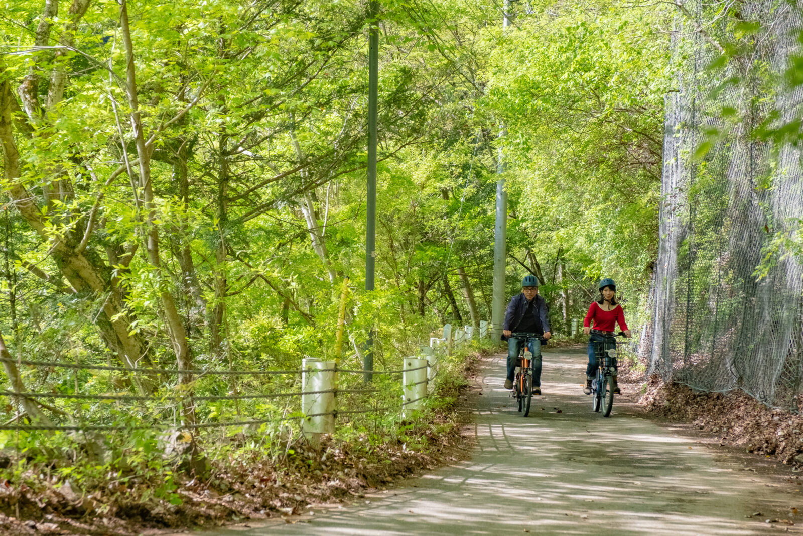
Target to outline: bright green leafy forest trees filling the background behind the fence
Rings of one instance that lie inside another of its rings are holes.
[[[326,358],[348,277],[353,351],[374,330],[377,359],[398,358],[446,322],[490,317],[499,178],[508,297],[535,273],[567,334],[611,276],[640,315],[671,11],[512,2],[503,29],[499,2],[380,7],[366,293],[367,2],[2,6],[9,354],[179,368]],[[31,388],[71,381],[6,372]]]

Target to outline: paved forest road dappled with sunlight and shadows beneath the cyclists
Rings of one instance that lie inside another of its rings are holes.
[[[774,464],[756,472],[756,456],[646,419],[628,397],[609,419],[594,414],[580,391],[582,350],[544,352],[544,395],[528,419],[503,389],[500,357],[483,360],[483,395],[471,397],[471,459],[294,523],[206,534],[803,533],[765,522],[797,522],[797,507],[803,525],[803,493]]]

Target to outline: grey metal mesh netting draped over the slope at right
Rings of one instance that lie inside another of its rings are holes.
[[[705,27],[706,5],[686,6],[696,28]],[[772,153],[748,133],[772,110],[792,117],[803,102],[801,91],[768,91],[797,50],[791,30],[801,27],[800,13],[785,3],[742,4],[740,15],[759,20],[762,31],[752,55],[724,72],[707,68],[719,52],[695,27],[673,36],[678,86],[666,97],[654,309],[642,333],[650,372],[665,381],[739,388],[793,410],[803,378],[801,260],[781,251],[766,277],[755,272],[776,233],[795,231],[803,217],[800,153],[791,146]],[[722,84],[734,75],[738,83]],[[724,105],[740,122],[695,161]]]

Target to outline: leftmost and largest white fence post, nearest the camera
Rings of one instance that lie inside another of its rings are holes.
[[[304,358],[301,368],[302,392],[331,391],[316,395],[301,395],[301,412],[304,415],[318,415],[305,417],[301,422],[301,429],[312,436],[313,443],[320,444],[321,434],[335,432],[335,362]],[[323,413],[331,415],[320,415]]]

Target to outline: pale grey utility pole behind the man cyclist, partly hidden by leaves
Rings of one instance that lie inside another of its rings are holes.
[[[502,14],[502,29],[507,30],[511,25],[511,0],[504,0]],[[499,140],[507,136],[507,129],[499,125]],[[496,162],[496,173],[503,174],[505,161],[502,143],[499,142],[499,157]],[[496,181],[496,223],[494,226],[494,284],[491,299],[491,341],[500,342],[504,324],[505,311],[505,268],[507,266],[507,191],[504,188],[504,178]]]

